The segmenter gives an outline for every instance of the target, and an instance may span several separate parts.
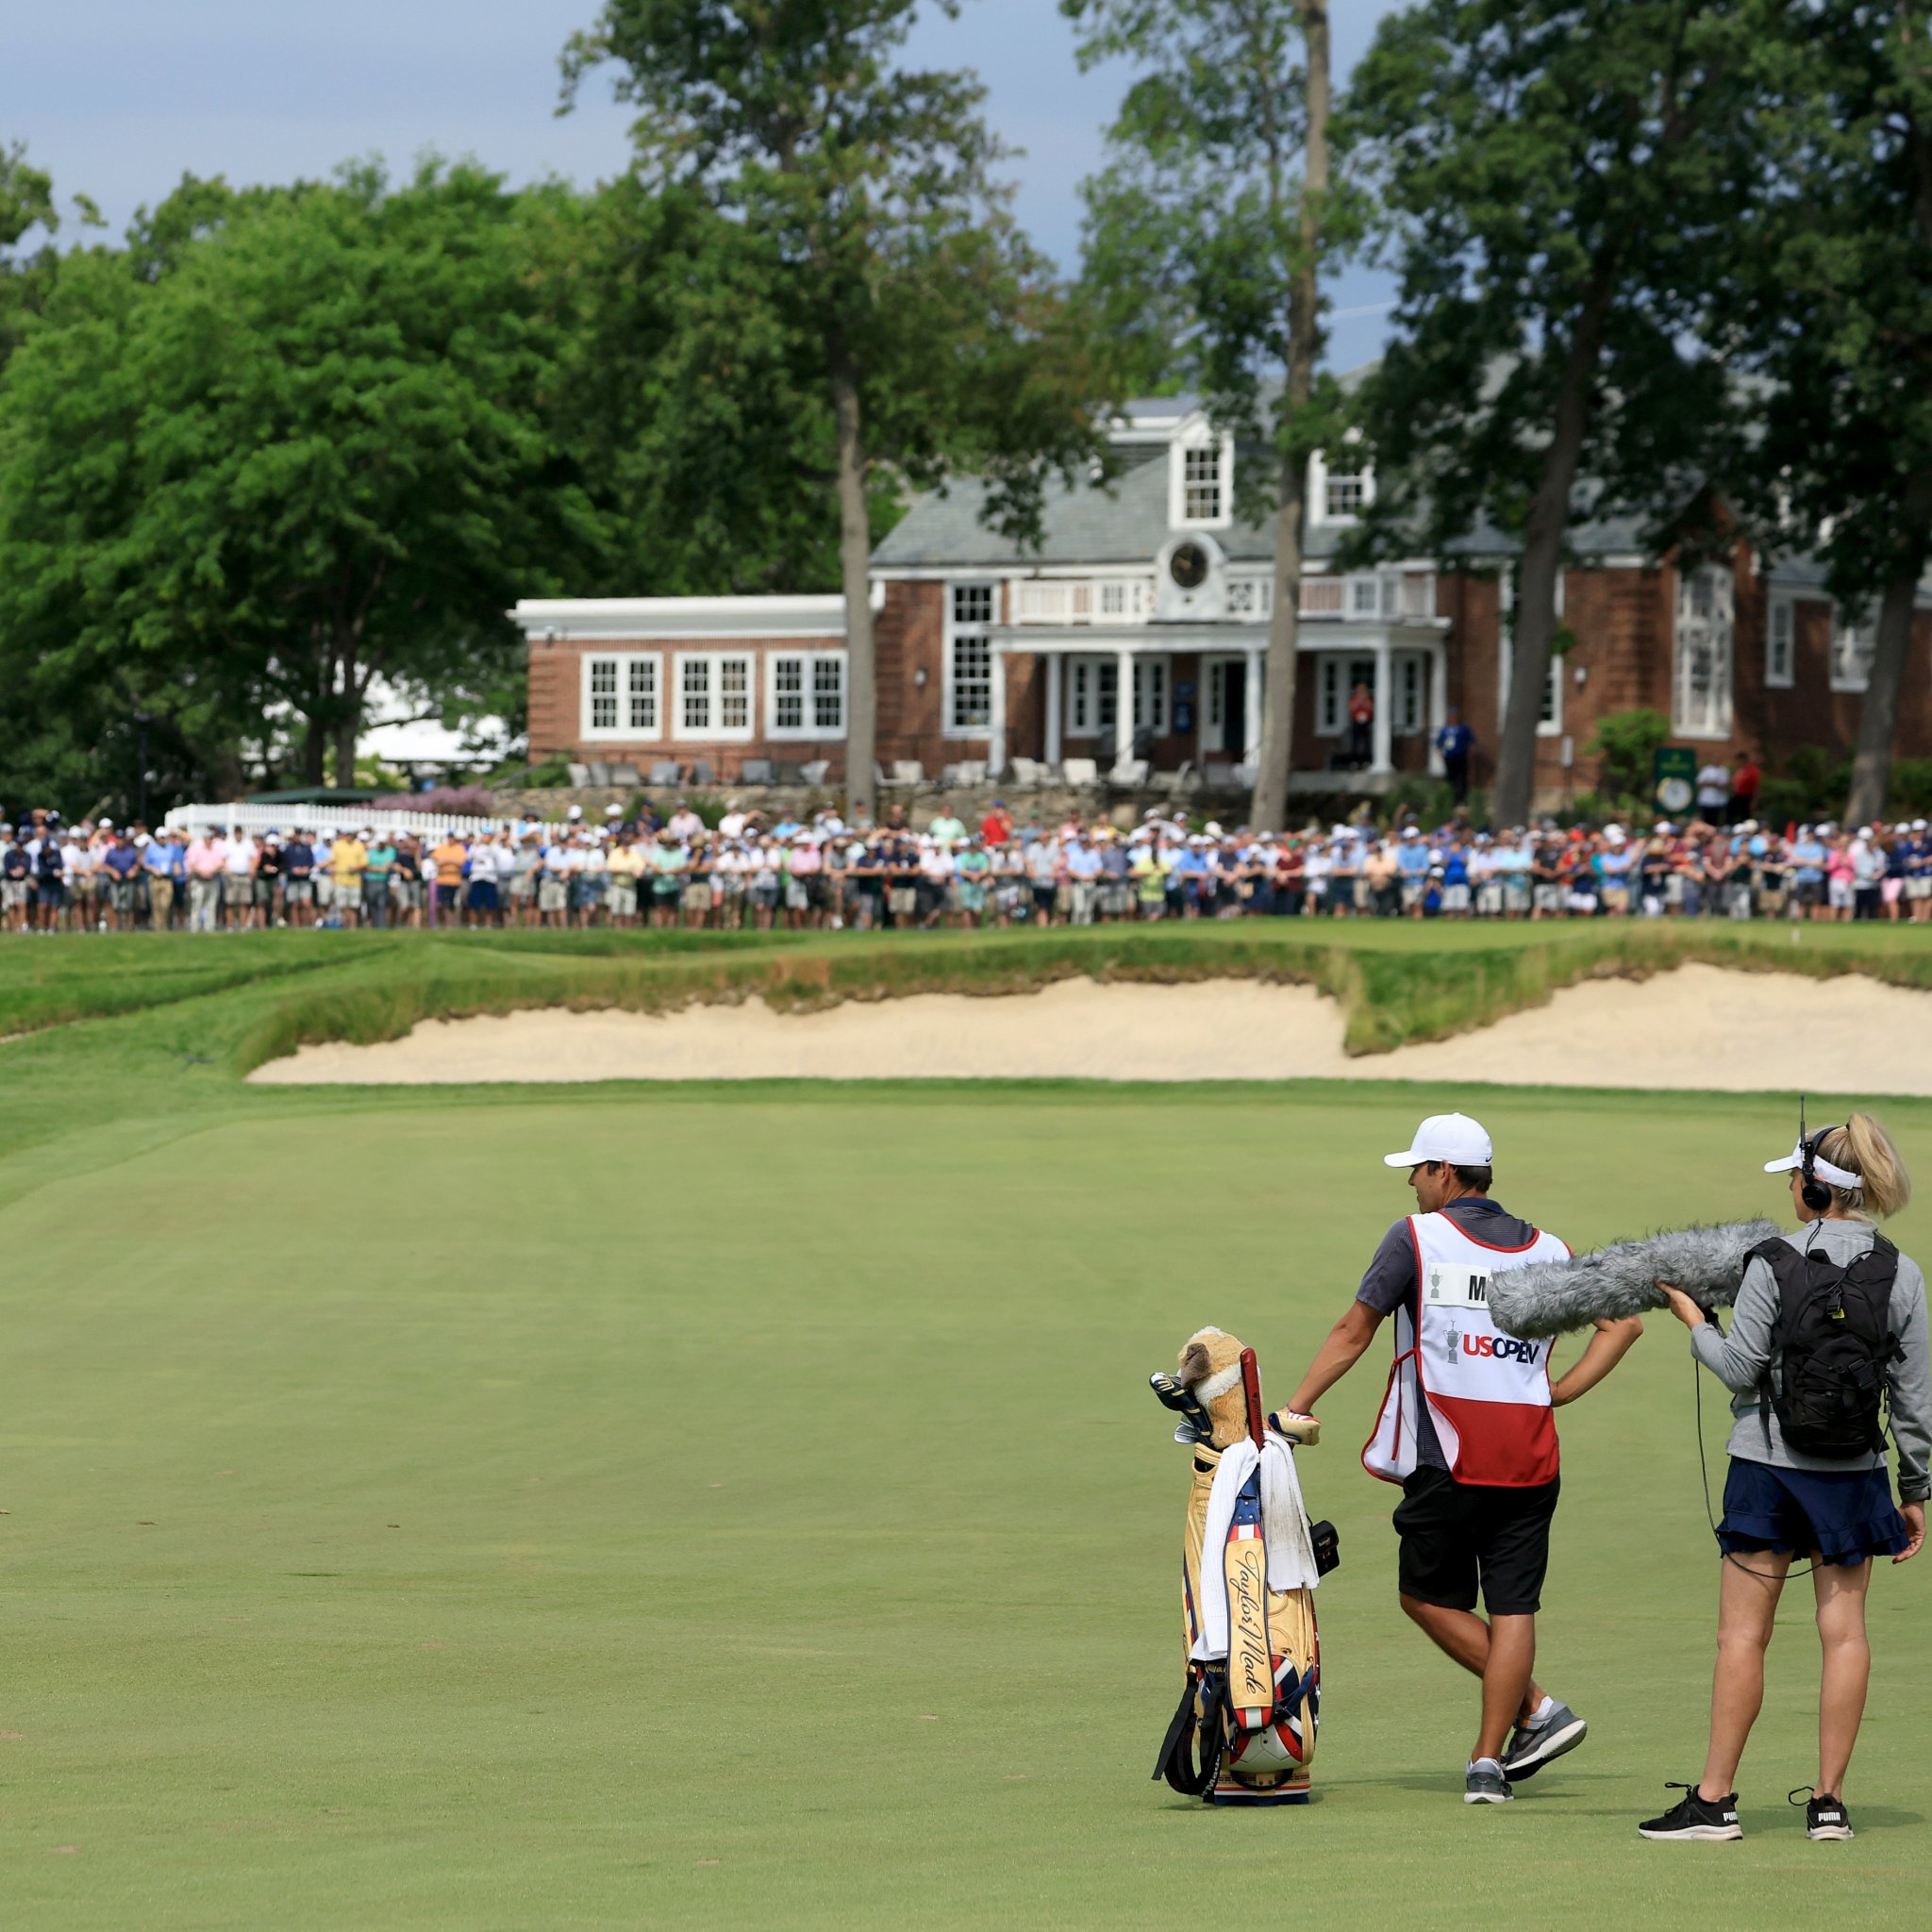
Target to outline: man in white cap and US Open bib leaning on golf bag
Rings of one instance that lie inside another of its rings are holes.
[[[1439,1113],[1385,1159],[1408,1169],[1416,1213],[1383,1235],[1291,1408],[1312,1416],[1395,1316],[1395,1364],[1362,1464],[1403,1488],[1395,1528],[1405,1613],[1482,1679],[1463,1801],[1505,1804],[1515,1783],[1575,1750],[1588,1729],[1534,1675],[1559,1488],[1551,1410],[1596,1387],[1642,1321],[1598,1321],[1577,1366],[1551,1387],[1551,1343],[1505,1335],[1490,1320],[1488,1285],[1505,1267],[1563,1260],[1569,1248],[1490,1200],[1490,1136],[1466,1115]],[[1478,1590],[1488,1623],[1476,1615]]]

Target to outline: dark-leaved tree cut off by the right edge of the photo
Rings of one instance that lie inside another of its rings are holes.
[[[1719,342],[1766,384],[1750,477],[1772,543],[1878,603],[1847,823],[1880,817],[1932,562],[1932,43],[1895,0],[1803,0],[1756,43],[1777,172]]]

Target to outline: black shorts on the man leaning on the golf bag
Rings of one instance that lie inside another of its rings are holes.
[[[1474,1609],[1480,1582],[1492,1617],[1534,1615],[1561,1488],[1557,1478],[1532,1490],[1495,1490],[1457,1482],[1443,1468],[1418,1468],[1395,1507],[1403,1596],[1441,1609]]]

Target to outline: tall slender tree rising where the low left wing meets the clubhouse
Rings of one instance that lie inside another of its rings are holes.
[[[838,502],[852,813],[871,810],[877,761],[873,483],[978,471],[993,520],[1024,539],[1045,468],[1072,477],[1095,446],[1078,344],[993,180],[983,89],[893,64],[916,12],[607,0],[564,54],[566,104],[591,68],[618,66],[647,187],[701,195],[765,242],[811,344]]]

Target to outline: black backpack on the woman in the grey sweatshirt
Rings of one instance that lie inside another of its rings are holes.
[[[1845,1267],[1785,1240],[1750,1252],[1777,1277],[1772,1335],[1779,1385],[1766,1370],[1758,1414],[1776,1410],[1785,1441],[1801,1455],[1849,1461],[1884,1449],[1886,1364],[1905,1354],[1891,1333],[1899,1250],[1874,1235],[1872,1246]]]

